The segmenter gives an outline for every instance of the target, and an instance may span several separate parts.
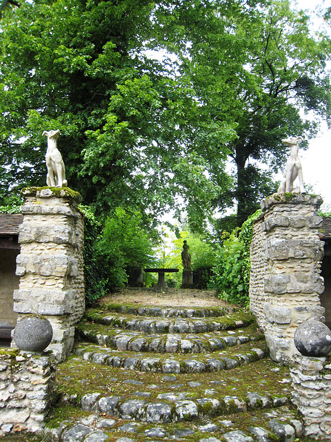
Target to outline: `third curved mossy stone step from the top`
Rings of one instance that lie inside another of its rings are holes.
[[[261,340],[263,335],[256,327],[245,330],[212,332],[205,334],[148,334],[117,332],[108,327],[81,323],[77,335],[98,345],[129,352],[199,354],[217,352],[225,347]]]

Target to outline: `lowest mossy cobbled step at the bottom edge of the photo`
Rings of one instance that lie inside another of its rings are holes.
[[[52,442],[106,442],[108,437],[117,442],[194,441],[194,442],[292,442],[301,440],[303,425],[297,412],[283,405],[273,410],[254,410],[247,414],[243,430],[236,419],[228,417],[194,420],[179,423],[143,423],[123,421],[114,416],[89,414],[76,422],[63,422],[57,427],[46,427],[46,440]],[[257,416],[263,423],[257,423]]]

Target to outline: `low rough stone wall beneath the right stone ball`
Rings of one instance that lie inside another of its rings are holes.
[[[331,441],[331,364],[325,358],[294,356],[292,401],[303,417],[305,435]]]

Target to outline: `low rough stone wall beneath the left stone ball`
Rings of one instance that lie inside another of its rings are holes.
[[[55,391],[54,358],[0,353],[0,436],[41,430]]]

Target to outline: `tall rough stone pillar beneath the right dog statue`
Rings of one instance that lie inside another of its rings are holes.
[[[293,336],[308,318],[324,321],[319,295],[323,243],[318,228],[319,196],[275,193],[261,204],[265,212],[265,339],[274,361],[288,363],[297,349]]]

